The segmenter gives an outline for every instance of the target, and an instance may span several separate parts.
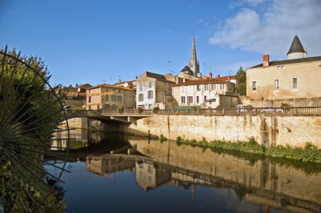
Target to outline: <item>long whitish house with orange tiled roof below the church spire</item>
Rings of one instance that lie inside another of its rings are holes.
[[[210,74],[211,76],[211,74]],[[173,85],[173,96],[178,108],[236,107],[238,96],[230,77],[190,80]]]

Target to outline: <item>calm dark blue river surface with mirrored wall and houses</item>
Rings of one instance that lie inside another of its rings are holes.
[[[319,165],[109,133],[72,137],[85,148],[61,177],[68,212],[321,212]]]

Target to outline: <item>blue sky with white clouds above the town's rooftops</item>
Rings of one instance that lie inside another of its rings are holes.
[[[295,35],[320,56],[321,1],[0,0],[0,47],[41,56],[52,86],[179,74],[193,33],[206,76],[286,60]]]

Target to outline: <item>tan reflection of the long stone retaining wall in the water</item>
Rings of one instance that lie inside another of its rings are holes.
[[[173,142],[151,141],[148,144],[147,141],[139,141],[137,151],[160,163],[271,191],[274,195],[284,194],[321,204],[320,174],[307,175],[304,171],[271,164],[268,160],[251,165],[247,160],[219,155],[209,149],[203,152],[197,147],[178,147]]]

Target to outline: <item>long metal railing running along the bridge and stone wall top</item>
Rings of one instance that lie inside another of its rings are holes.
[[[184,110],[68,110],[67,116],[153,116],[153,115],[304,115],[321,116],[321,107],[221,108]]]

